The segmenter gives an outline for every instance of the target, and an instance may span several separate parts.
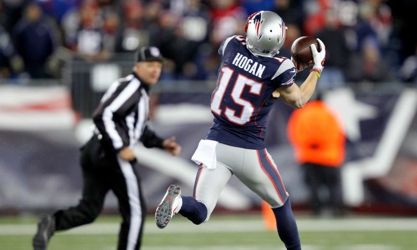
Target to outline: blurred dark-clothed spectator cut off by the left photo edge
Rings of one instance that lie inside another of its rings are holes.
[[[23,60],[16,53],[7,31],[0,25],[0,79],[23,70]]]

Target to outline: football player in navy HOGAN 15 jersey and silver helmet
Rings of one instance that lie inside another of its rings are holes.
[[[279,56],[286,26],[271,11],[249,16],[246,37],[232,36],[219,48],[222,62],[211,97],[214,123],[191,158],[200,168],[193,196],[171,185],[156,209],[156,225],[164,228],[180,213],[195,224],[207,222],[218,196],[233,174],[272,208],[278,234],[287,250],[300,250],[289,195],[277,166],[265,148],[266,119],[275,101],[302,108],[312,96],[323,70],[325,47],[312,45],[313,69],[304,83],[294,84],[297,71],[310,65]]]

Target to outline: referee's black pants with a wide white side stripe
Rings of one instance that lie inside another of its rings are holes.
[[[81,149],[80,162],[82,198],[77,206],[54,214],[55,229],[65,230],[93,222],[103,208],[105,195],[112,190],[123,218],[117,249],[140,249],[146,208],[135,162],[122,160],[116,153],[105,153],[96,136]]]

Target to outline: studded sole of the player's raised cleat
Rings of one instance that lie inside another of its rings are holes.
[[[155,212],[156,226],[164,228],[172,218],[172,204],[174,199],[180,194],[181,188],[178,185],[169,186],[163,197],[161,203],[159,203]]]

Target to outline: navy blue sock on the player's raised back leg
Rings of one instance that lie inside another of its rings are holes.
[[[197,201],[191,196],[181,196],[182,207],[180,214],[193,222],[194,224],[201,224],[207,218],[207,207],[203,203]]]

